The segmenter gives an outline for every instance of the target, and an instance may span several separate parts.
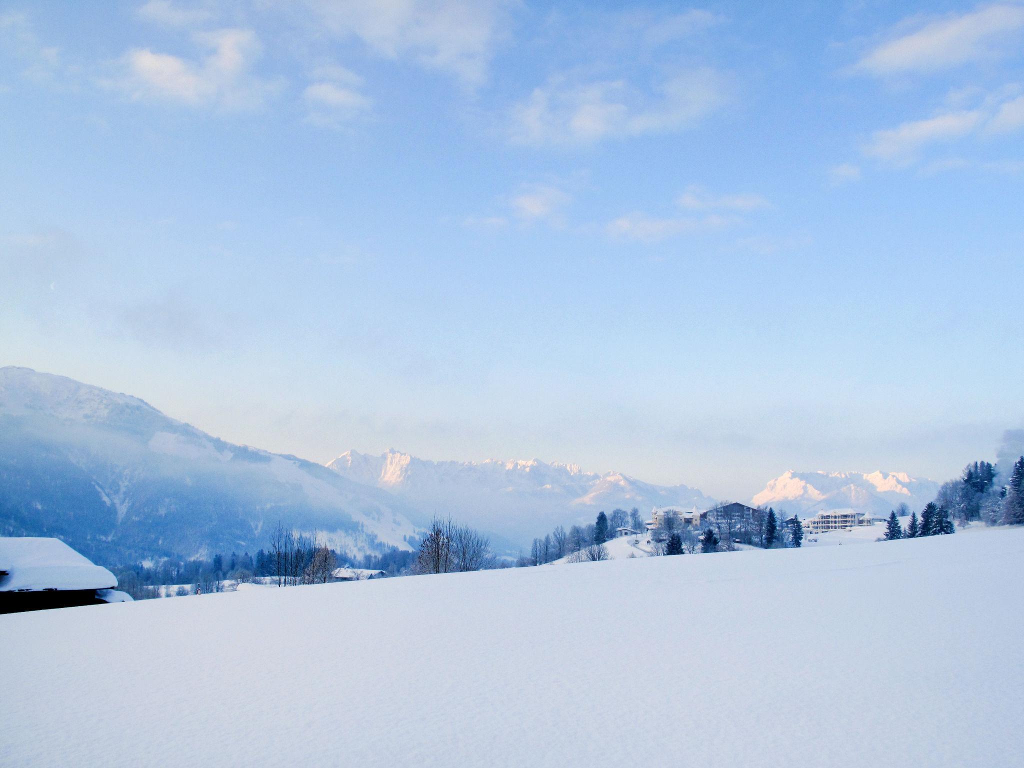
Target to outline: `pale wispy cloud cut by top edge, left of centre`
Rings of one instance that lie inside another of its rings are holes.
[[[307,0],[307,4],[336,36],[358,37],[380,55],[409,57],[476,86],[486,80],[510,2]]]

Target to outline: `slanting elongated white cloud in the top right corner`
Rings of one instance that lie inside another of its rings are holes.
[[[883,43],[857,67],[874,75],[947,70],[997,55],[1022,29],[1024,7],[989,5],[931,22],[916,32]]]

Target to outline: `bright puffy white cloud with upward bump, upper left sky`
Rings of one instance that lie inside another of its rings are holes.
[[[121,59],[124,76],[115,85],[135,99],[222,109],[259,106],[278,86],[251,74],[262,47],[251,30],[227,29],[193,35],[209,52],[189,60],[148,48],[134,48]]]

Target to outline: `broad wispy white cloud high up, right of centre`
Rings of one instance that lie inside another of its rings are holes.
[[[625,79],[574,83],[555,77],[513,108],[511,138],[526,144],[587,144],[669,133],[718,109],[725,90],[724,78],[711,69],[679,73],[648,90]]]

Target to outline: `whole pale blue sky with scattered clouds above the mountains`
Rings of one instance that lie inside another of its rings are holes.
[[[1024,4],[0,4],[0,361],[745,499],[1024,421]]]

